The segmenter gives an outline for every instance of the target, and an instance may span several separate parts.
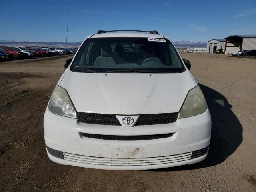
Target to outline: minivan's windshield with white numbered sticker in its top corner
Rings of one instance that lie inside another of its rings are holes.
[[[182,72],[185,69],[169,40],[134,37],[86,40],[72,62],[71,70],[77,71],[76,68],[96,72],[140,70],[159,73]]]

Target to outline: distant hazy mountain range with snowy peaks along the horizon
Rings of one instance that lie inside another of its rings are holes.
[[[79,47],[82,41],[68,42],[69,47]],[[176,47],[179,48],[206,48],[207,42],[204,41],[174,41]],[[66,46],[65,42],[36,42],[29,40],[0,40],[0,45],[16,45],[16,46]]]

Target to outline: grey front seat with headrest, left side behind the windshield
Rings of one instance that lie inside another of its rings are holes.
[[[100,56],[95,59],[94,66],[111,67],[116,66],[116,62],[112,58],[113,52],[110,46],[100,48]]]

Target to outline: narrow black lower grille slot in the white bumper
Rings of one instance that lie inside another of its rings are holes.
[[[171,137],[172,135],[173,135],[173,133],[157,134],[157,135],[133,135],[133,136],[98,135],[98,134],[83,133],[83,136],[88,137],[88,138],[104,139],[104,140],[118,140],[118,141],[138,141],[138,140],[161,139],[161,138]]]

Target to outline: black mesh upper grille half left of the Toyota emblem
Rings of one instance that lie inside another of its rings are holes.
[[[82,123],[99,125],[120,125],[116,115],[99,113],[78,113],[78,119]]]

